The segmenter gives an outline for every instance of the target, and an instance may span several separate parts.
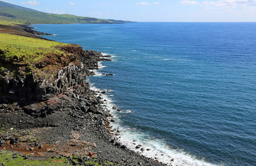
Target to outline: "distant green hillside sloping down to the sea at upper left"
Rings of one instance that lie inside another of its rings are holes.
[[[71,14],[50,14],[0,1],[0,24],[71,24],[71,23],[126,23],[123,20],[79,17]]]

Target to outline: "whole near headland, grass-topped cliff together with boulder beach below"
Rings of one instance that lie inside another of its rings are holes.
[[[109,125],[106,92],[86,82],[109,56],[76,44],[0,35],[0,150],[11,155],[0,164],[162,165],[112,137],[118,132]]]

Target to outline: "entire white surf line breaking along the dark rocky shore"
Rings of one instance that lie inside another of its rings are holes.
[[[112,55],[104,53],[103,55],[108,58],[113,58]],[[103,65],[102,61],[98,62],[98,66],[99,70],[92,70],[95,73],[93,76],[107,76],[101,73],[101,70],[107,66]],[[112,143],[167,165],[214,165],[204,160],[199,160],[195,156],[184,152],[182,149],[171,149],[163,139],[153,138],[148,133],[142,132],[139,128],[122,125],[120,117],[129,116],[130,113],[134,113],[133,110],[119,110],[112,99],[112,97],[114,97],[111,93],[113,90],[101,90],[94,86],[95,83],[92,83],[89,78],[87,82],[91,90],[96,92],[96,97],[100,96],[102,98],[103,103],[101,106],[103,110],[109,113],[108,121],[110,122],[109,128],[112,134]]]

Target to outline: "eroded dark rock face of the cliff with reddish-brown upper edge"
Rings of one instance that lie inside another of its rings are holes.
[[[60,49],[67,54],[46,55],[31,64],[37,70],[17,64],[14,75],[7,71],[0,80],[0,102],[46,101],[72,87],[89,89],[86,76],[93,74],[89,70],[98,69],[98,61],[104,60],[102,54],[75,44]]]

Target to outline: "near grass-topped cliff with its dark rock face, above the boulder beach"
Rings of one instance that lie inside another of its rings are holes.
[[[76,44],[0,33],[0,100],[48,100],[86,84],[101,53]]]

